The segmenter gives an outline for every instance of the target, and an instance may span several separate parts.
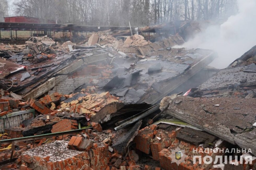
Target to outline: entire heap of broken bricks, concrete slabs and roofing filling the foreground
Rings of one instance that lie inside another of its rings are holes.
[[[255,169],[255,47],[217,70],[179,34],[126,34],[0,59],[1,168]]]

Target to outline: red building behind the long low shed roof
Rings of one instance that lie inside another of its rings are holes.
[[[40,18],[34,17],[5,17],[4,22],[42,23],[40,22]],[[47,20],[47,24],[55,24],[55,21]]]

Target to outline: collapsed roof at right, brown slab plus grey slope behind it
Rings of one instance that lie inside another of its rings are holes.
[[[160,109],[256,154],[255,49],[246,52],[188,96],[165,97]]]

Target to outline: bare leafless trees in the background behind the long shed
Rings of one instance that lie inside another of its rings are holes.
[[[149,26],[176,20],[217,20],[237,0],[17,0],[15,15],[92,26]]]

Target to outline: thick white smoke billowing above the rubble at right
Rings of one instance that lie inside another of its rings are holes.
[[[220,26],[210,26],[182,45],[218,52],[210,66],[225,68],[256,45],[256,0],[238,0],[238,14]]]

